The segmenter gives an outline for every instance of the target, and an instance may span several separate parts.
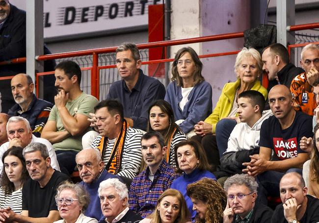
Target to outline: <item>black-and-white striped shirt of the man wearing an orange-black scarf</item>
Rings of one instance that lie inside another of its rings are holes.
[[[129,127],[126,133],[126,138],[123,147],[121,171],[120,176],[126,176],[133,179],[140,168],[142,160],[141,138],[145,134],[143,130]],[[98,135],[92,142],[92,148],[98,149],[102,136]],[[108,140],[102,160],[107,164],[116,139]]]

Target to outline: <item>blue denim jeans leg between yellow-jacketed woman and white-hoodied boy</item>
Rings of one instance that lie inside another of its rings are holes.
[[[232,119],[221,119],[216,124],[216,142],[219,152],[219,158],[227,149],[228,139],[237,122]]]

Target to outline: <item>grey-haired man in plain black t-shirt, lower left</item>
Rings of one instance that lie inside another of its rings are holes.
[[[31,179],[23,185],[21,215],[6,208],[6,221],[34,223],[59,220],[54,196],[57,186],[69,177],[51,167],[48,149],[42,143],[30,143],[23,149],[23,155]]]

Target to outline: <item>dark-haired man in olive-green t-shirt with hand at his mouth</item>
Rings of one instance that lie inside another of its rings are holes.
[[[54,76],[58,94],[41,137],[52,143],[61,172],[71,174],[77,165],[75,156],[82,149],[81,138],[90,129],[87,118],[98,100],[81,91],[81,70],[77,63],[59,63]]]

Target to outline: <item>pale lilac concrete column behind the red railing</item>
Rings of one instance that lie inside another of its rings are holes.
[[[240,32],[250,28],[249,0],[201,0],[202,36]],[[205,42],[203,54],[240,50],[243,38]],[[203,75],[213,88],[213,107],[225,83],[236,80],[234,73],[236,55],[210,57],[202,60]]]

